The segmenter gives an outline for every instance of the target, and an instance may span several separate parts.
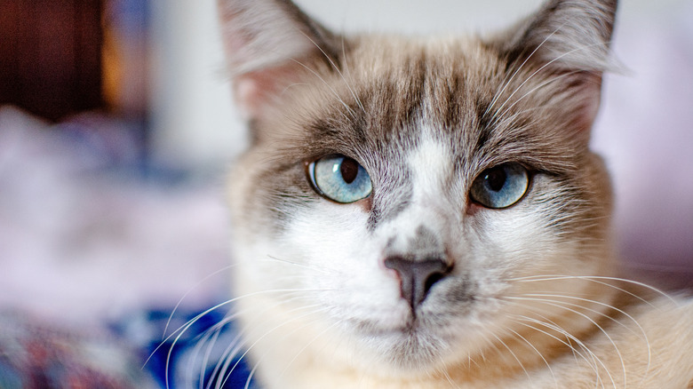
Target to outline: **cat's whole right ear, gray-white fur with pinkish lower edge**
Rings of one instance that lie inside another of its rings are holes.
[[[491,45],[511,71],[533,64],[563,77],[574,119],[589,129],[597,114],[601,74],[616,67],[609,55],[617,0],[549,0]]]

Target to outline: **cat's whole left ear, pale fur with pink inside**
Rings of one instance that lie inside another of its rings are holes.
[[[306,71],[307,59],[332,60],[337,37],[289,0],[218,0],[235,100],[258,118]]]

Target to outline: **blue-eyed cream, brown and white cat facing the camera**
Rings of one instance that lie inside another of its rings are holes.
[[[693,388],[693,302],[618,278],[588,145],[616,9],[549,0],[495,35],[412,38],[219,0],[260,387]]]

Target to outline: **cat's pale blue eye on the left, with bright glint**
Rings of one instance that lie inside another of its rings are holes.
[[[356,202],[373,188],[368,172],[344,155],[327,155],[310,163],[308,176],[315,191],[334,202]]]

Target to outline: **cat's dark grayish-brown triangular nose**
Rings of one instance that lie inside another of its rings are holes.
[[[399,274],[402,298],[409,302],[412,309],[421,304],[434,284],[452,270],[451,266],[440,258],[417,261],[394,256],[385,259],[385,266]]]

